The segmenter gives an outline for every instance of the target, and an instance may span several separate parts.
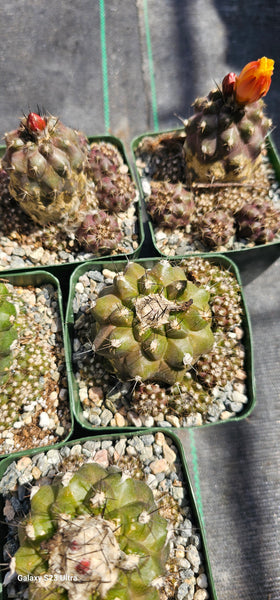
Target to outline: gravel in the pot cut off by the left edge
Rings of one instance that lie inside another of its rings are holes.
[[[5,286],[16,308],[17,338],[0,387],[1,454],[54,444],[71,422],[57,291],[51,284]]]

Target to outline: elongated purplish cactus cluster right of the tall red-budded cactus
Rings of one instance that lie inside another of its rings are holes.
[[[95,182],[99,207],[109,213],[128,209],[136,196],[120,152],[112,144],[94,143],[88,156],[87,173]]]

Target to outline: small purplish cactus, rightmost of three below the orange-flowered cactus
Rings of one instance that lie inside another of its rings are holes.
[[[245,204],[235,219],[238,236],[256,244],[272,242],[280,230],[280,210],[268,201]]]

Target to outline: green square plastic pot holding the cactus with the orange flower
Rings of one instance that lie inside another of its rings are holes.
[[[183,133],[184,129],[175,129],[175,130],[167,130],[160,132],[148,132],[136,137],[131,144],[132,153],[134,156],[134,167],[137,177],[137,182],[139,185],[140,193],[142,196],[142,200],[145,204],[145,193],[142,185],[141,174],[139,173],[139,169],[137,168],[137,156],[136,152],[141,143],[141,141],[145,137],[157,138],[157,136],[165,133]],[[271,136],[267,137],[266,141],[267,155],[270,161],[271,166],[275,172],[275,177],[277,181],[280,182],[280,159],[277,152],[277,149],[273,143]],[[157,253],[157,256],[162,256],[165,258],[170,258],[170,256],[164,254],[158,246],[155,236],[155,229],[153,223],[148,215],[148,226],[151,235],[152,244]],[[279,237],[279,236],[278,236]],[[211,254],[217,254],[219,252],[211,252]],[[279,256],[280,256],[280,241],[269,242],[267,244],[259,244],[252,248],[242,248],[239,250],[227,250],[222,252],[224,255],[228,256],[231,260],[233,260],[238,266],[242,278],[242,282],[245,284],[253,281],[256,277],[258,277],[265,269],[267,269]],[[184,256],[196,254],[196,253],[187,253]],[[181,258],[181,255],[175,255],[174,258]]]

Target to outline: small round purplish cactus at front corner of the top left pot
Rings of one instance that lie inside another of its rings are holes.
[[[85,217],[76,238],[88,252],[106,254],[118,247],[123,234],[115,217],[99,211]]]

